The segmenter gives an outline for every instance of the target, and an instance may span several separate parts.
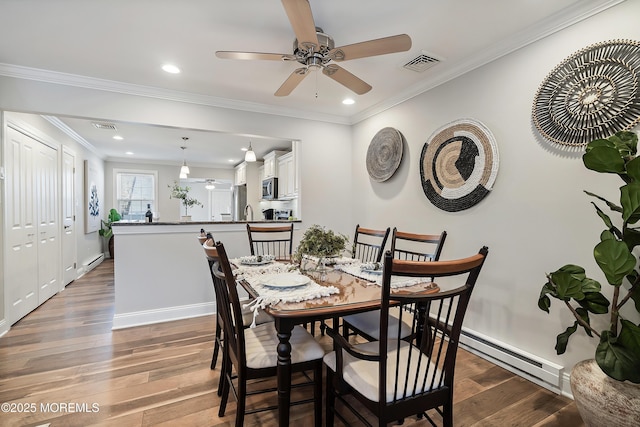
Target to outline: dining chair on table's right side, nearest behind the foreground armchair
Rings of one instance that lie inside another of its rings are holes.
[[[398,231],[393,228],[391,234],[391,254],[396,259],[407,261],[438,261],[444,241],[447,238],[447,232],[440,234],[416,234],[404,231]],[[398,327],[397,308],[390,310],[389,328]],[[360,335],[368,341],[374,341],[380,338],[380,310],[366,311],[363,313],[352,314],[342,318],[342,335]],[[400,325],[406,335],[409,335],[411,326],[407,324]]]

